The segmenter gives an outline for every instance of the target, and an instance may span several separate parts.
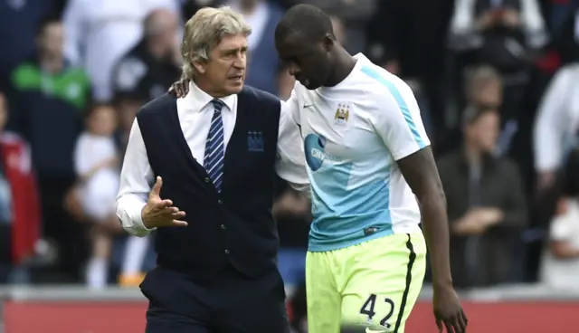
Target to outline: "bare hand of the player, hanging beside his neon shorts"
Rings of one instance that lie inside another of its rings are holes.
[[[469,319],[460,306],[459,296],[451,286],[434,288],[434,318],[439,332],[464,333]]]

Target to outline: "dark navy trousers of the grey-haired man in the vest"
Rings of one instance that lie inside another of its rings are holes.
[[[211,281],[157,266],[141,284],[146,333],[289,333],[277,270],[250,279],[227,267]]]

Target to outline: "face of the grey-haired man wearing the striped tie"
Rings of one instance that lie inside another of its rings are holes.
[[[243,89],[247,65],[247,36],[224,36],[209,54],[209,61],[195,63],[195,69],[214,92],[223,96]]]

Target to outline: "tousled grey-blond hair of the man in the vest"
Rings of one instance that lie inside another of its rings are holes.
[[[230,7],[205,7],[197,11],[185,24],[181,55],[183,56],[183,78],[192,80],[195,73],[193,62],[209,61],[209,53],[221,43],[226,35],[249,36],[252,27],[242,14]]]

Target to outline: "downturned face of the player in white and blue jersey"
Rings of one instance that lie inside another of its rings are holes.
[[[329,37],[319,43],[311,43],[293,34],[283,40],[276,40],[275,46],[280,59],[288,64],[289,74],[308,90],[326,84],[331,72],[329,50],[333,46]]]

